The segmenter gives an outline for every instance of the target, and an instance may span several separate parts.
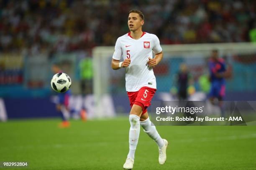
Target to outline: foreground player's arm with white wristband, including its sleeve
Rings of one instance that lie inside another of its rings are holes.
[[[123,62],[120,62],[120,59],[123,55],[122,45],[120,42],[120,37],[115,42],[115,52],[112,57],[111,67],[113,70],[118,70],[121,67],[128,67],[131,63],[131,59],[125,59]]]

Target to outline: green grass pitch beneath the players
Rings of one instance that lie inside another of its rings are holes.
[[[0,162],[28,162],[7,170],[122,170],[128,153],[127,118],[0,123]],[[256,170],[256,126],[157,126],[169,141],[167,161],[141,128],[134,170]]]

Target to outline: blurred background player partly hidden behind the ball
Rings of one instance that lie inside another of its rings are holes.
[[[52,65],[51,67],[54,74],[62,72],[60,67],[57,64]],[[60,128],[67,128],[70,126],[70,122],[68,121],[70,117],[69,113],[69,97],[71,95],[71,91],[67,90],[64,93],[58,93],[58,101],[56,103],[56,109],[61,116],[62,122],[59,124]]]

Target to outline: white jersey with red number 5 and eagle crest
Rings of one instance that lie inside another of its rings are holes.
[[[162,51],[159,39],[154,34],[143,32],[141,38],[135,40],[129,32],[117,39],[113,59],[131,59],[131,64],[125,72],[126,91],[136,92],[145,86],[156,89],[153,68],[147,64],[148,57],[152,58],[152,51],[155,54]]]

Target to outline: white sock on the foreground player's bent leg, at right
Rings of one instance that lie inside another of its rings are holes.
[[[161,138],[161,136],[157,132],[155,125],[149,120],[149,117],[147,120],[140,122],[140,124],[144,129],[144,132],[146,132],[146,134],[148,134],[150,138],[156,141],[159,148],[162,148],[162,146],[164,146],[164,140]]]

